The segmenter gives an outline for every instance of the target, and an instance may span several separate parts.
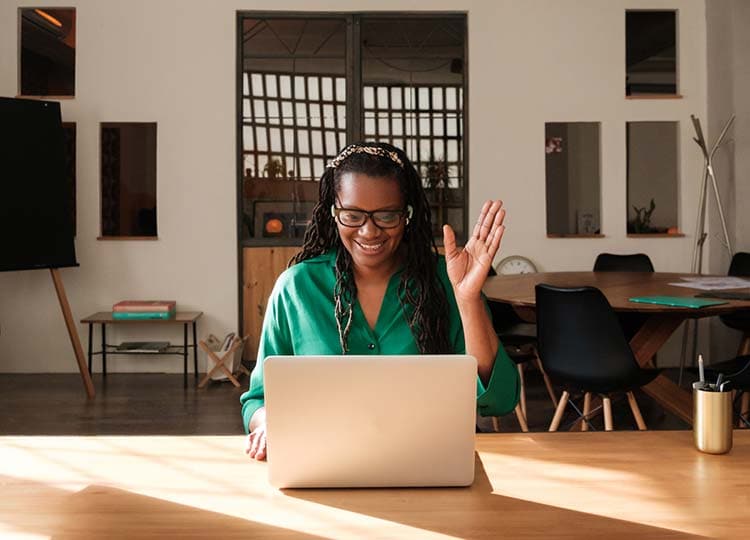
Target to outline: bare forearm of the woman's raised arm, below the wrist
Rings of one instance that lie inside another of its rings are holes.
[[[495,356],[499,341],[492,327],[492,320],[487,314],[481,297],[474,300],[459,300],[458,311],[464,327],[466,354],[477,359],[477,372],[484,384],[487,384],[495,365]]]

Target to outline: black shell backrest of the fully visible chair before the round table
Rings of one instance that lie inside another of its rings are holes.
[[[536,286],[538,351],[552,380],[618,387],[640,367],[612,307],[595,287]]]

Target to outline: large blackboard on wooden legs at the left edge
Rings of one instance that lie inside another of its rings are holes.
[[[78,266],[60,104],[0,98],[0,271]]]

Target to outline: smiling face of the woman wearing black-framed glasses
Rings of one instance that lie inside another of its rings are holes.
[[[395,178],[347,172],[339,179],[334,206],[375,212],[401,211],[406,205]],[[378,227],[372,217],[368,217],[360,227],[346,227],[338,219],[336,226],[341,243],[352,256],[354,265],[377,269],[395,263],[404,236],[406,217],[402,216],[394,228]]]

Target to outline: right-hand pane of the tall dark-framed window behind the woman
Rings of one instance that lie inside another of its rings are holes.
[[[361,28],[364,137],[404,149],[422,176],[433,233],[449,223],[463,238],[465,19],[372,18]]]

